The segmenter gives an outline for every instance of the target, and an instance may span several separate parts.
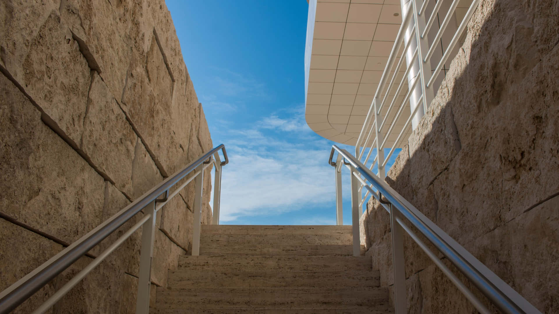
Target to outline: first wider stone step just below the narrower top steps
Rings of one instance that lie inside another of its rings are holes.
[[[365,256],[179,256],[188,270],[361,270],[371,271]]]

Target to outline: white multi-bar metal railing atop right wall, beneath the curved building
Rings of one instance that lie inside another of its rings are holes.
[[[355,151],[357,159],[368,165],[369,170],[377,166],[377,173],[381,178],[385,177],[386,163],[400,143],[407,139],[406,132],[413,127],[414,122],[419,121],[424,112],[427,112],[427,108],[433,101],[434,92],[436,92],[434,90],[435,79],[439,77],[449,58],[454,55],[454,47],[464,33],[480,0],[472,0],[446,50],[440,59],[434,60],[434,52],[437,47],[440,47],[440,39],[443,34],[446,34],[445,31],[454,17],[459,2],[461,0],[439,0],[436,3],[433,3],[433,0],[402,1],[402,24],[378,83],[375,98],[359,133]],[[449,4],[448,11],[440,23],[437,34],[432,39],[428,39],[427,35],[432,30],[434,21],[440,21],[439,11],[443,4]],[[433,8],[429,18],[426,19],[428,13],[426,11],[429,6],[433,6]],[[400,59],[396,63],[398,57]],[[432,64],[437,65],[432,68]],[[402,72],[403,77],[397,79],[399,73]],[[406,117],[402,113],[408,108],[410,114]],[[405,122],[402,124],[401,121]],[[395,132],[398,130],[394,139]],[[392,142],[391,145],[389,145],[389,141]],[[389,149],[386,156],[385,149]],[[373,157],[372,160],[370,160],[371,157]],[[362,191],[363,186],[363,184],[359,186],[359,192]],[[371,193],[367,189],[359,203],[360,207],[370,195]]]

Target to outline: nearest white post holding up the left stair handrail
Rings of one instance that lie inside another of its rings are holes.
[[[136,314],[148,314],[149,290],[151,287],[151,261],[153,261],[153,241],[155,237],[155,201],[144,207],[145,215],[151,215],[144,222],[141,231],[140,270],[138,273],[138,296],[136,298]]]

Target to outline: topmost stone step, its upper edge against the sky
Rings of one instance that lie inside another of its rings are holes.
[[[202,230],[202,235],[209,235],[209,234],[329,235],[329,234],[351,234],[352,226],[202,225],[201,230]]]

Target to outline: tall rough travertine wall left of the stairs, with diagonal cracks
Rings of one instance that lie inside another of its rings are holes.
[[[0,72],[0,291],[212,148],[164,0],[1,1]],[[211,221],[210,179],[202,223]],[[158,212],[154,285],[188,254],[193,191]],[[134,312],[140,239],[50,312]],[[108,241],[16,312],[30,312]]]

